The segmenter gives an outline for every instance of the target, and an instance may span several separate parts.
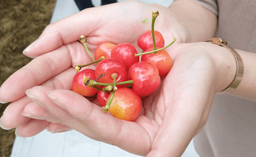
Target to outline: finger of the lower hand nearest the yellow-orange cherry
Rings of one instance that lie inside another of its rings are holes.
[[[73,123],[70,119],[63,119],[64,124],[71,128],[92,139],[119,146],[129,152],[145,155],[145,152],[149,151],[150,138],[144,128],[137,123],[123,121],[109,113],[103,113],[101,107],[72,91],[55,90],[49,91],[48,95],[55,104],[80,122]]]

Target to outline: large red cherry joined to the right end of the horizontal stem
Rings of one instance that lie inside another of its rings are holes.
[[[133,64],[128,75],[133,80],[133,91],[140,97],[155,92],[161,81],[157,67],[150,62],[137,62]]]

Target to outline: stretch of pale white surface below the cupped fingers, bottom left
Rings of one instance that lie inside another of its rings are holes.
[[[11,157],[140,157],[90,139],[75,130],[15,139]]]

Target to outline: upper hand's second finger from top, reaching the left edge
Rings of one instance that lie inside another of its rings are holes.
[[[15,72],[2,84],[0,101],[15,101],[24,96],[29,88],[51,79],[69,67],[71,58],[65,46],[42,55]]]

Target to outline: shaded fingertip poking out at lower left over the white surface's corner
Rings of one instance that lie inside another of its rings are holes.
[[[50,124],[48,121],[39,119],[30,119],[24,125],[18,127],[15,131],[18,137],[31,137],[39,134],[42,130],[46,129]]]

